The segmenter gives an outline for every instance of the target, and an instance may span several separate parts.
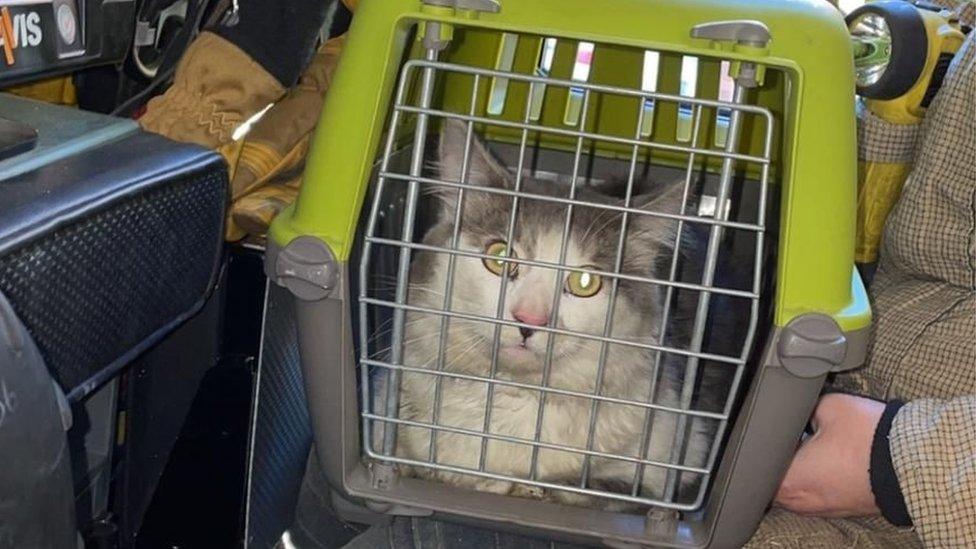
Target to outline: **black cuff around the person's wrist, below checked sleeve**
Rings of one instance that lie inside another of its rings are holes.
[[[891,444],[888,441],[891,423],[904,404],[900,400],[893,400],[885,406],[871,443],[870,475],[874,502],[881,509],[882,516],[895,526],[912,525],[912,517],[908,515],[908,508],[905,506],[905,496],[898,486],[898,476],[891,463]]]

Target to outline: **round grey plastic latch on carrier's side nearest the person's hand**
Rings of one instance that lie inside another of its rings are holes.
[[[776,346],[780,363],[797,377],[819,377],[844,363],[847,336],[827,315],[805,314],[790,321]]]

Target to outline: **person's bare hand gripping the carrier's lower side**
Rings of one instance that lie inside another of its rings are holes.
[[[801,515],[851,517],[881,511],[871,491],[871,443],[885,404],[832,393],[813,412],[814,434],[793,456],[773,500]]]

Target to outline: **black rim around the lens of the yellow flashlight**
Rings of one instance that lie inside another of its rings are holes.
[[[884,18],[891,32],[891,57],[884,74],[870,86],[858,86],[857,93],[868,99],[894,99],[912,89],[922,76],[928,52],[925,22],[918,8],[908,2],[871,2],[847,15],[847,26],[866,14]]]

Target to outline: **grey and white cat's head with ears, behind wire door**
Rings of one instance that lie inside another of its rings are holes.
[[[515,176],[501,166],[475,138],[470,148],[467,177],[462,178],[461,164],[466,129],[448,123],[439,147],[439,177],[462,181],[477,187],[512,190]],[[521,190],[533,194],[567,197],[569,188],[551,182],[524,177]],[[436,197],[442,202],[436,225],[424,242],[449,248],[454,229],[457,190],[442,187]],[[561,330],[602,336],[605,332],[611,299],[615,301],[612,330],[616,338],[647,341],[657,333],[660,321],[659,289],[641,282],[620,280],[616,292],[610,277],[572,270],[572,267],[614,272],[620,239],[621,214],[614,210],[575,206],[563,252],[566,223],[565,204],[520,199],[511,240],[512,197],[466,190],[461,212],[458,248],[484,253],[498,260],[456,255],[454,290],[451,309],[484,317],[495,317],[503,299],[501,317],[528,327],[503,326],[499,337],[499,358],[506,369],[541,367],[549,338],[554,337],[554,360],[579,357],[593,360],[600,342],[572,337],[551,336],[534,326],[552,326]],[[676,195],[676,196],[675,196]],[[620,204],[615,199],[588,189],[577,189],[577,198],[601,204]],[[657,200],[634,203],[657,211],[676,213],[681,194],[673,190]],[[674,222],[644,215],[628,216],[629,227],[620,271],[637,276],[652,276],[656,261],[670,258],[667,249],[673,239]],[[506,256],[566,265],[558,270],[527,264],[506,263]],[[412,299],[424,306],[440,309],[446,288],[448,255],[418,253],[411,272],[411,283],[419,291]],[[508,282],[503,275],[508,270]],[[616,294],[615,297],[612,297]],[[556,305],[558,300],[558,306]],[[455,327],[455,325],[457,325]],[[449,344],[483,346],[480,352],[490,355],[495,325],[488,322],[453,320]]]

